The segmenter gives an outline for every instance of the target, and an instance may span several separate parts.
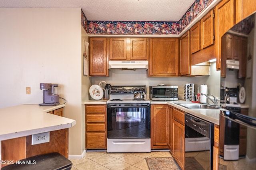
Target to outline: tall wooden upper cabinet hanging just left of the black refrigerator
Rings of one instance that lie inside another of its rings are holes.
[[[221,37],[235,25],[235,4],[234,0],[222,0],[215,7],[215,56],[216,69],[221,67]]]

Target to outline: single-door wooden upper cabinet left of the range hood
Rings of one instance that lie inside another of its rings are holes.
[[[89,75],[108,77],[107,39],[90,38]]]

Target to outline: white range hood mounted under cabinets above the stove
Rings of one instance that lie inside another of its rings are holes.
[[[147,70],[148,61],[108,61],[108,69]]]

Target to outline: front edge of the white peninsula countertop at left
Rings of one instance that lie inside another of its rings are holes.
[[[13,138],[19,138],[19,137],[23,137],[23,136],[30,136],[32,134],[38,134],[38,133],[43,133],[43,132],[50,132],[50,131],[54,131],[54,130],[61,130],[64,128],[73,127],[74,125],[76,125],[76,121],[74,121],[72,123],[67,123],[64,125],[56,125],[56,126],[52,126],[52,127],[44,127],[44,128],[39,128],[39,129],[26,130],[26,131],[22,131],[22,132],[2,134],[2,135],[0,135],[0,141],[13,139]]]

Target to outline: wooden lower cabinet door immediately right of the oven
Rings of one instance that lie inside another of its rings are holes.
[[[151,105],[151,148],[167,149],[168,105]]]

